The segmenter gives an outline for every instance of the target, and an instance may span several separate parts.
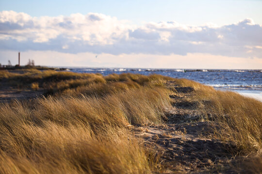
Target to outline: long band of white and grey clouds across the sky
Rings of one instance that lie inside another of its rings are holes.
[[[262,26],[249,18],[221,27],[189,26],[175,21],[136,26],[97,13],[32,17],[14,11],[0,12],[2,50],[112,55],[205,53],[262,58],[261,41]]]

